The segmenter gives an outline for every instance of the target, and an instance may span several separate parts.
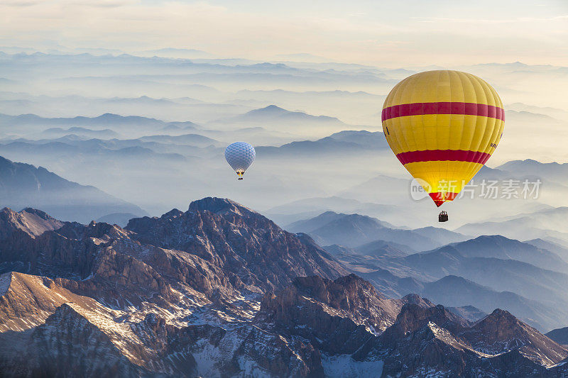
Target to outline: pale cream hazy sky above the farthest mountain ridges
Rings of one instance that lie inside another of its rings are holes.
[[[2,0],[0,45],[192,48],[378,66],[568,65],[567,0]]]

